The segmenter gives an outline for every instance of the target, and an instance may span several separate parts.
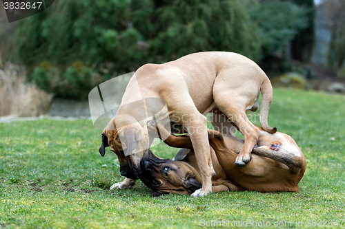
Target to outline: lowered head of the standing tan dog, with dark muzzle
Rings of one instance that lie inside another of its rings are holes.
[[[106,147],[110,147],[110,151],[116,153],[119,159],[121,175],[130,179],[139,178],[140,160],[147,151],[131,153],[142,140],[142,132],[143,128],[139,123],[117,129],[113,118],[101,134],[102,144],[99,153],[103,157],[106,154]]]

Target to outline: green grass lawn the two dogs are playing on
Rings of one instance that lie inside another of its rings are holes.
[[[123,177],[115,153],[99,155],[101,131],[91,120],[0,123],[0,227],[199,228],[224,219],[223,226],[251,220],[257,227],[277,221],[315,228],[312,220],[322,219],[337,220],[328,228],[345,228],[344,116],[345,96],[275,89],[268,123],[292,136],[306,156],[300,192],[226,191],[196,199],[150,197],[140,181],[130,190],[108,190]],[[159,144],[152,151],[172,158],[178,150]]]

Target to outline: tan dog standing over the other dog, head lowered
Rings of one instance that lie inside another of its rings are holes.
[[[148,120],[141,117],[140,106],[128,104],[143,98],[161,98],[166,102],[172,124],[180,124],[190,133],[202,179],[202,188],[193,194],[197,197],[211,192],[211,176],[215,174],[203,114],[219,110],[244,135],[243,149],[234,161],[244,166],[250,161],[250,153],[260,133],[246,117],[246,111],[257,107],[260,91],[260,123],[265,131],[275,133],[277,130],[269,127],[267,122],[272,85],[262,69],[245,56],[232,52],[199,52],[161,65],[140,67],[128,83],[115,118],[102,133],[103,144],[99,152],[103,156],[105,147],[110,146],[119,157],[121,175],[129,178],[111,188],[130,188],[135,184],[141,173],[140,160],[148,156],[148,150],[130,152],[137,149],[139,142],[149,145],[153,140],[147,136]],[[148,117],[155,115],[153,111],[147,112]],[[161,120],[162,117],[155,118]]]

